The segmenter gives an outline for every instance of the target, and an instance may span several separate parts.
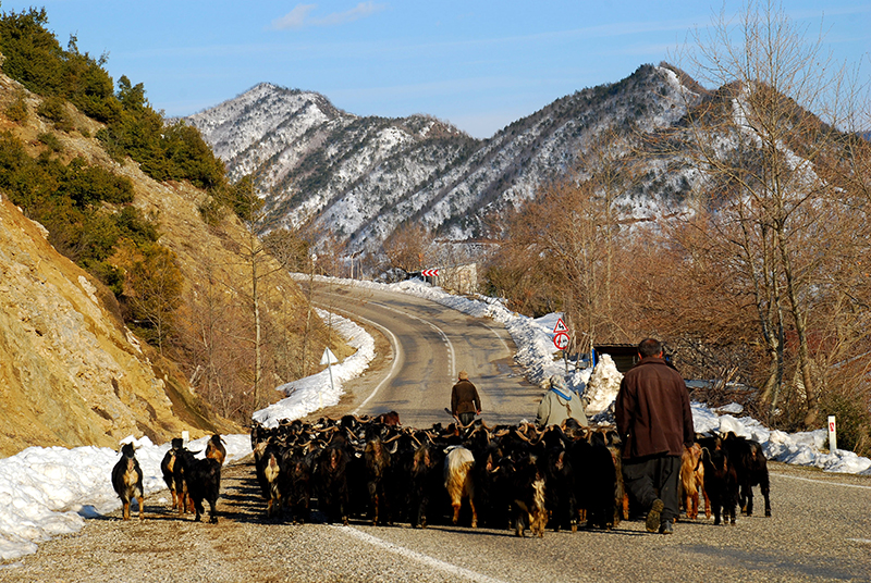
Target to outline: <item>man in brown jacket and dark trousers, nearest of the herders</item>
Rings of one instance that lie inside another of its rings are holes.
[[[648,532],[671,534],[678,516],[680,456],[696,435],[684,379],[662,358],[653,338],[638,345],[641,361],[619,385],[615,404],[623,438],[626,489],[648,510]]]

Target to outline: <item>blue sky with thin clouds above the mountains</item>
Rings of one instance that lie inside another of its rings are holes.
[[[357,115],[428,113],[475,137],[639,65],[668,60],[687,33],[741,2],[331,0],[0,0],[45,7],[115,78],[188,115],[260,82],[314,90]],[[823,9],[823,5],[825,7]],[[871,1],[785,0],[798,25],[826,30],[839,61],[871,70]],[[670,52],[672,51],[672,52]]]

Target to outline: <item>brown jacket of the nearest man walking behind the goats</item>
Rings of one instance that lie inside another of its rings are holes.
[[[641,359],[626,372],[614,412],[625,459],[680,456],[696,437],[686,383],[661,358]]]

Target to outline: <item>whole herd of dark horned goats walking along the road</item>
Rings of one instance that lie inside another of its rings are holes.
[[[624,493],[616,431],[572,419],[545,430],[530,423],[490,427],[480,420],[419,430],[401,425],[396,413],[285,420],[273,429],[255,424],[252,447],[269,520],[308,522],[317,509],[323,520],[344,524],[351,518],[421,528],[463,522],[543,536],[548,526],[612,529],[641,513]],[[218,435],[205,459],[173,439],[162,463],[173,509],[195,511],[199,521],[205,500],[217,522],[224,456]],[[112,481],[124,518],[133,498],[142,518],[142,471],[132,446],[122,449]],[[766,460],[753,441],[699,435],[684,452],[680,491],[689,519],[698,517],[703,498],[714,524],[734,524],[738,507],[752,513],[755,485],[771,516]]]

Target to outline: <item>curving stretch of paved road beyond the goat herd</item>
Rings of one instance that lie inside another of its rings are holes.
[[[465,370],[481,396],[488,424],[535,419],[540,390],[515,365],[514,342],[501,324],[366,287],[315,282],[312,298],[319,307],[360,323],[377,340],[377,361],[347,384],[351,395],[342,411],[395,410],[404,425],[417,427],[447,423],[451,387]]]

